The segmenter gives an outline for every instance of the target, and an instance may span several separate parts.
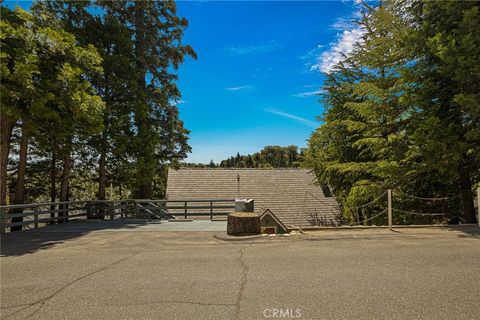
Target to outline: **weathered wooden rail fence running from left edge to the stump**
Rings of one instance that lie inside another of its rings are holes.
[[[235,199],[126,199],[14,204],[0,206],[0,232],[39,228],[72,219],[187,219],[209,216],[212,220],[217,216],[228,215],[234,208]]]

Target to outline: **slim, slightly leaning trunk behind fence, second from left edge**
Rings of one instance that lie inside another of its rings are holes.
[[[25,173],[27,171],[27,154],[28,154],[28,134],[25,130],[25,122],[22,124],[22,136],[20,138],[20,151],[18,159],[17,181],[15,182],[14,204],[25,203]],[[14,210],[15,213],[22,213],[23,209]],[[23,217],[12,218],[12,223],[22,222]],[[14,226],[10,231],[20,231],[22,226]]]

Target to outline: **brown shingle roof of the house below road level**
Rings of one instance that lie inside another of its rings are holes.
[[[240,197],[254,199],[258,213],[270,209],[286,226],[299,226],[305,191],[308,191],[318,200],[308,197],[304,226],[310,225],[314,216],[340,223],[335,198],[325,197],[307,169],[171,169],[167,199],[236,198],[237,175],[240,175]]]

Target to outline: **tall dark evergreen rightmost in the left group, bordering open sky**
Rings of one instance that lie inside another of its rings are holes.
[[[185,56],[195,57],[193,49],[182,43],[188,22],[176,15],[173,1],[102,1],[101,5],[118,17],[134,40],[136,196],[151,198],[157,167],[164,163],[175,167],[190,151],[188,131],[174,103],[180,92],[172,73]]]

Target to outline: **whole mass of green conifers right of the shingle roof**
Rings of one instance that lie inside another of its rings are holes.
[[[324,123],[309,140],[306,165],[344,205],[386,189],[458,195],[449,210],[475,221],[478,3],[381,1],[361,12],[362,38],[326,74]]]

